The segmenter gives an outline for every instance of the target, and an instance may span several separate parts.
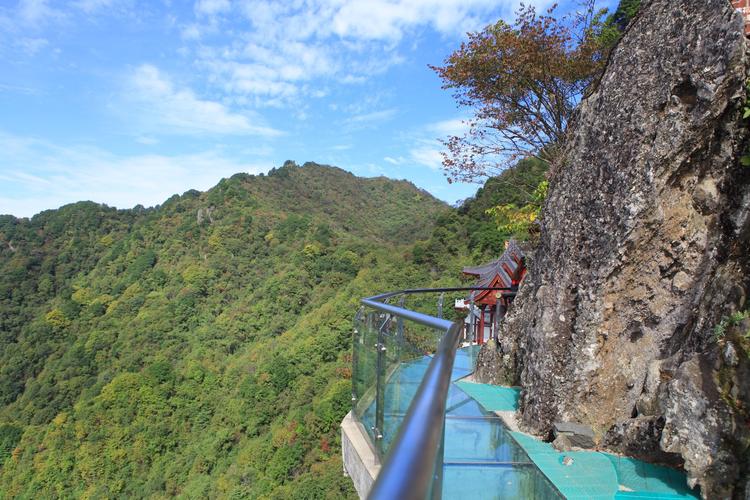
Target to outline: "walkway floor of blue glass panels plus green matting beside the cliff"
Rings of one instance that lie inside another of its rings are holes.
[[[574,458],[574,466],[565,467],[563,454],[551,444],[511,432],[502,419],[478,402],[483,401],[488,408],[502,403],[486,390],[490,386],[459,382],[474,371],[478,352],[479,346],[459,349],[453,366],[446,403],[443,498],[697,498],[696,492],[688,489],[682,472],[593,451],[565,453]],[[424,356],[403,362],[389,373],[383,402],[385,449],[397,434],[430,360],[430,356]],[[375,402],[361,420],[366,426],[374,425]]]

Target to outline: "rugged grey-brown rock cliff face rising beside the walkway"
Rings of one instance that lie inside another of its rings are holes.
[[[729,0],[644,2],[580,106],[485,355],[523,387],[529,430],[589,424],[710,498],[744,496],[748,476],[748,357],[714,334],[749,289],[746,44]]]

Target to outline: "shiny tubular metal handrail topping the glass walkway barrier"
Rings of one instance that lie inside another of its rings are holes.
[[[397,295],[479,290],[515,292],[516,288],[418,288],[362,299],[363,305],[377,311],[445,332],[417,393],[409,405],[368,498],[374,500],[440,498],[445,404],[462,328],[461,322],[436,318],[383,301]]]

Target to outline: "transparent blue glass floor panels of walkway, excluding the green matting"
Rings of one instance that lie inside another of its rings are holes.
[[[479,347],[458,350],[454,382],[473,372]],[[388,436],[396,434],[395,427],[406,414],[429,362],[426,356],[402,363],[390,374],[385,389],[386,446],[390,445]],[[365,425],[374,424],[374,406],[373,403],[362,416]],[[446,404],[443,498],[563,497],[511,437],[503,421],[453,383]]]

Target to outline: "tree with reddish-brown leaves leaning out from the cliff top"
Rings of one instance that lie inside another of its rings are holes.
[[[596,11],[594,0],[560,19],[554,9],[538,15],[522,5],[514,25],[498,21],[469,33],[445,66],[431,66],[459,106],[474,110],[464,135],[442,141],[449,181],[481,181],[526,157],[555,165],[611,42],[602,36],[606,11]]]

